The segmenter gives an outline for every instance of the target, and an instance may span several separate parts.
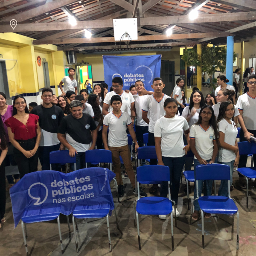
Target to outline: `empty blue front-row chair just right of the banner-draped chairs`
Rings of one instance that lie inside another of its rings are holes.
[[[148,165],[139,166],[137,168],[137,189],[140,189],[140,183],[143,184],[158,184],[162,181],[168,181],[168,198],[162,197],[145,197],[140,198],[138,193],[138,199],[134,201],[134,227],[135,222],[135,203],[136,205],[136,219],[138,230],[138,242],[139,250],[140,246],[140,227],[139,227],[139,214],[141,215],[168,215],[171,213],[171,227],[172,227],[172,250],[174,250],[173,240],[173,219],[172,219],[172,203],[171,191],[170,191],[170,169],[168,166]],[[175,226],[176,226],[176,207],[175,207]]]

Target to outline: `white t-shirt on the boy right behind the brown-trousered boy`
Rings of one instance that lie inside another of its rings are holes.
[[[106,94],[105,99],[104,99],[104,103],[109,105],[109,108],[108,108],[109,113],[111,113],[113,111],[113,108],[111,108],[111,106],[110,106],[110,100],[111,100],[112,96],[114,96],[114,95],[118,95],[118,94],[116,94],[114,91],[109,92]],[[121,99],[122,99],[121,110],[123,112],[128,113],[131,116],[131,103],[134,102],[133,95],[130,92],[125,93],[125,91],[123,91],[122,94],[119,96],[121,96]]]

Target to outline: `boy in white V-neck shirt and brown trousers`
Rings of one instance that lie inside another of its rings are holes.
[[[132,126],[130,115],[126,112],[121,111],[121,97],[119,95],[112,96],[110,106],[113,111],[104,117],[102,140],[105,149],[110,150],[112,153],[113,168],[116,174],[116,181],[118,184],[118,194],[119,197],[122,197],[124,195],[124,186],[120,168],[120,156],[122,157],[125,170],[134,189],[134,194],[136,193],[135,175],[131,164],[131,151],[128,146],[128,137],[126,133],[127,127],[135,144],[135,152],[137,151],[137,148],[139,148],[139,145],[137,143],[137,138]],[[107,140],[108,129],[109,133]],[[141,190],[140,196],[145,197],[147,196],[147,194]]]

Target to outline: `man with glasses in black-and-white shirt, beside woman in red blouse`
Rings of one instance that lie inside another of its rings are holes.
[[[52,89],[44,88],[41,99],[43,104],[33,108],[31,113],[39,116],[38,122],[41,127],[39,160],[42,170],[49,170],[50,152],[60,150],[61,143],[58,140],[57,133],[64,113],[60,107],[52,105]],[[52,164],[52,170],[61,171],[61,166]]]

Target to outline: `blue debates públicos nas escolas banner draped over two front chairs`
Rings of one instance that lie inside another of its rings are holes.
[[[22,217],[74,210],[114,209],[109,183],[116,175],[105,168],[70,173],[40,171],[26,174],[10,189],[15,227]]]

